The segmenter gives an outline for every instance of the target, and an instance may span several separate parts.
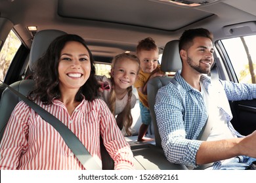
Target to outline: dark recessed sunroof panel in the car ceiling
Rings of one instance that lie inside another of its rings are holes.
[[[211,12],[196,8],[163,5],[155,1],[144,3],[144,1],[91,1],[90,5],[87,5],[80,3],[79,0],[59,0],[58,15],[64,18],[135,25],[163,31],[175,31],[213,15]],[[132,6],[135,3],[136,6]],[[151,13],[157,10],[159,13]],[[182,14],[182,16],[178,18],[173,14]]]

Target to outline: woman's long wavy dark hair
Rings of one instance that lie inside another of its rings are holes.
[[[54,39],[45,54],[36,62],[35,73],[33,76],[35,80],[35,87],[29,93],[29,99],[40,99],[45,105],[50,105],[52,104],[53,98],[60,98],[61,93],[58,87],[58,63],[60,59],[60,52],[64,48],[66,42],[69,41],[76,41],[83,44],[89,52],[91,61],[91,74],[87,82],[85,82],[85,84],[81,86],[76,93],[75,101],[81,101],[83,99],[83,95],[88,101],[93,101],[95,97],[98,96],[97,90],[99,85],[95,79],[95,65],[91,51],[81,37],[78,35],[67,34]]]

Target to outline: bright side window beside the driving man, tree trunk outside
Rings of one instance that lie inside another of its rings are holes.
[[[221,41],[232,62],[239,82],[256,83],[256,35]]]

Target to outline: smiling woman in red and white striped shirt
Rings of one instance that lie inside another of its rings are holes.
[[[68,126],[101,165],[100,135],[114,169],[133,169],[133,154],[106,103],[96,99],[95,67],[85,41],[62,35],[35,67],[29,98]],[[0,169],[85,169],[59,133],[23,101],[0,144]]]

